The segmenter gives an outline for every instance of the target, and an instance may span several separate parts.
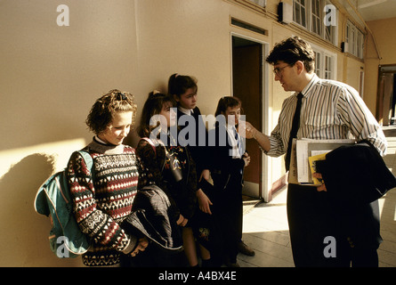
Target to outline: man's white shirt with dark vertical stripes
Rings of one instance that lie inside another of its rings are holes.
[[[269,156],[278,157],[287,151],[297,94],[283,102],[278,125],[270,136]],[[310,83],[303,88],[302,94],[297,139],[367,139],[384,155],[387,147],[384,132],[352,86],[320,79],[314,74]]]

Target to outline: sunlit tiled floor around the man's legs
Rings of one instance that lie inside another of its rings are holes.
[[[396,137],[388,137],[389,147],[384,157],[386,165],[396,175]],[[259,203],[244,215],[243,240],[255,249],[255,256],[238,255],[243,267],[293,267],[293,257],[287,225],[287,188],[275,193],[270,203]],[[380,267],[396,267],[396,189],[379,200],[381,236],[378,249]]]

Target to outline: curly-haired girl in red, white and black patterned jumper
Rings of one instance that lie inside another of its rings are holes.
[[[111,90],[94,104],[86,124],[95,136],[83,150],[93,159],[88,169],[78,152],[69,159],[68,177],[77,224],[92,240],[83,263],[114,266],[120,256],[136,255],[148,241],[130,236],[120,224],[131,213],[138,183],[134,150],[123,144],[133,126],[133,95]]]

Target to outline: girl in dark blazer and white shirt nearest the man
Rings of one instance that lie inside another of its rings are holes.
[[[237,255],[244,248],[254,251],[242,241],[242,187],[244,168],[250,163],[243,140],[238,134],[241,102],[237,97],[222,97],[215,112],[216,126],[209,131],[215,145],[209,147],[211,173],[217,189],[217,218],[221,221],[222,258],[227,266],[238,267]],[[246,254],[246,253],[245,253]]]

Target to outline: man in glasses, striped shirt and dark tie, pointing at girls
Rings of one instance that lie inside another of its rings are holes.
[[[283,102],[279,123],[270,136],[258,132],[246,122],[246,138],[255,138],[264,153],[279,157],[290,150],[289,140],[297,97],[302,96],[299,126],[294,137],[319,140],[366,139],[384,155],[387,142],[376,118],[352,86],[320,79],[313,72],[315,57],[311,45],[299,37],[287,38],[275,45],[267,61],[274,67],[275,80],[279,81],[285,91],[294,91],[295,94]],[[286,161],[288,170],[290,160],[287,158]],[[288,184],[287,218],[295,265],[349,266],[352,261],[352,265],[377,266],[378,246],[360,252],[362,257],[353,260],[350,254],[351,240],[348,243],[346,238],[336,240],[337,258],[324,256],[325,238],[340,236],[337,222],[340,217],[336,216],[336,211],[335,203],[328,199],[326,184],[316,189],[312,186]],[[379,231],[375,234],[379,236]]]

